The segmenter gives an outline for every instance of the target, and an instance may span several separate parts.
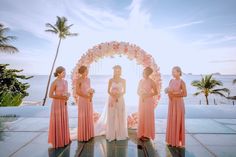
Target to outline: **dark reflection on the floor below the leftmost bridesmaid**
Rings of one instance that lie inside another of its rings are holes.
[[[64,147],[64,148],[49,148],[48,149],[48,156],[49,157],[69,157],[70,156],[70,145]]]

